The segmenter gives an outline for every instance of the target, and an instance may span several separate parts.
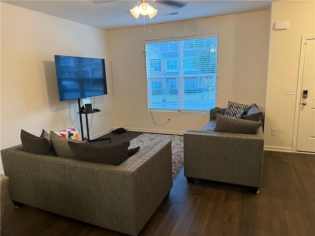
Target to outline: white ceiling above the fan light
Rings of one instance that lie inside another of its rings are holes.
[[[137,0],[1,0],[3,2],[101,29],[123,29],[149,24],[149,17],[134,18],[129,9]],[[270,9],[272,0],[180,0],[183,7],[149,0],[158,9],[151,25],[203,17]],[[170,14],[171,13],[171,14]],[[175,13],[175,14],[174,14]],[[178,13],[178,14],[176,14]]]

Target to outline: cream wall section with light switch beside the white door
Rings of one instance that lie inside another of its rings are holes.
[[[284,95],[284,88],[297,88],[301,38],[315,35],[315,1],[274,1],[271,8],[268,80],[266,92],[265,149],[292,150],[297,95]],[[274,23],[289,21],[285,30]],[[271,135],[271,129],[277,135]]]

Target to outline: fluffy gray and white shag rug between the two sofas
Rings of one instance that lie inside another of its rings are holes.
[[[155,139],[170,139],[172,141],[172,170],[173,179],[180,172],[184,165],[184,137],[181,135],[170,135],[170,134],[151,134],[144,133],[138,137],[130,140],[130,148],[144,147],[148,142]]]

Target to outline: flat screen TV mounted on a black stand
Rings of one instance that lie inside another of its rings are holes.
[[[60,101],[107,94],[104,59],[55,55]]]

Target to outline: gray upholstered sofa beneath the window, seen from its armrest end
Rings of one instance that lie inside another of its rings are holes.
[[[184,133],[184,175],[189,183],[194,178],[208,179],[250,186],[257,193],[262,177],[262,127],[256,134],[215,132],[217,114],[224,111],[211,109],[203,130]]]

